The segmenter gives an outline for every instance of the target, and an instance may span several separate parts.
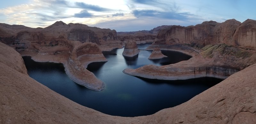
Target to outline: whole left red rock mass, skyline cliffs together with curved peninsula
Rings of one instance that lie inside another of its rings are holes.
[[[35,61],[63,63],[72,80],[95,91],[103,90],[104,83],[86,69],[87,65],[106,62],[102,50],[124,46],[117,39],[115,30],[83,24],[67,25],[62,21],[46,28],[0,24],[0,41]]]

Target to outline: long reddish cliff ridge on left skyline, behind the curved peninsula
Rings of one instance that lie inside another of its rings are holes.
[[[19,49],[26,49],[32,43],[42,46],[63,45],[63,41],[68,40],[97,43],[102,50],[123,47],[123,43],[118,40],[115,30],[90,27],[78,23],[67,25],[62,21],[57,21],[46,28],[0,24],[0,41],[9,45],[13,44],[13,47]]]

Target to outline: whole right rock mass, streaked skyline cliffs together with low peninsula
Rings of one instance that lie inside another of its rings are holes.
[[[250,49],[256,35],[251,32],[248,33],[250,36],[246,35],[251,37],[247,40],[252,45],[237,43],[239,38],[244,37],[244,33],[239,33],[240,29],[249,25],[246,32],[251,31],[256,26],[253,25],[255,22],[248,19],[240,23],[231,19],[223,23],[206,21],[196,26],[170,26],[160,29],[154,43],[147,50],[160,48],[178,51],[191,55],[192,58],[161,67],[147,65],[138,69],[124,69],[123,72],[132,76],[164,80],[198,77],[226,79],[256,62],[255,49]]]

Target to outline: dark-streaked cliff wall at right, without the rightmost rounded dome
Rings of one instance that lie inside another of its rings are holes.
[[[233,33],[241,23],[235,19],[223,23],[205,21],[196,26],[171,26],[157,34],[156,43],[170,44],[172,42],[192,44],[204,47],[209,44],[225,43],[231,45]]]

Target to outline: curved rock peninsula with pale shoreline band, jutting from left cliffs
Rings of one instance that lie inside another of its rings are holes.
[[[68,62],[65,64],[65,71],[68,76],[77,84],[83,85],[94,91],[102,91],[104,82],[88,71],[87,65],[92,62],[107,62],[96,43],[77,42]],[[86,54],[84,54],[86,53]]]

